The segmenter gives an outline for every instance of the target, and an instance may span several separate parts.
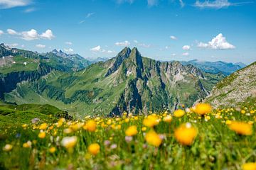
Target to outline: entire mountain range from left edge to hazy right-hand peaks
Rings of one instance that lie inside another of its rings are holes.
[[[125,47],[110,60],[92,62],[61,50],[38,54],[1,44],[0,99],[50,104],[76,117],[174,111],[208,98],[227,71],[239,69],[238,64],[225,62],[190,63],[151,60],[136,47]],[[194,63],[215,67],[216,72]]]

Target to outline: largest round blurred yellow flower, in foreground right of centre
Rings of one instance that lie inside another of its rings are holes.
[[[193,140],[196,138],[197,130],[192,127],[191,123],[184,123],[174,131],[174,135],[181,145],[192,145]]]

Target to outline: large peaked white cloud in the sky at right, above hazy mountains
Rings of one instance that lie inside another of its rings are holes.
[[[198,47],[206,48],[210,50],[229,50],[234,49],[235,46],[227,42],[226,38],[222,33],[218,34],[215,38],[213,38],[208,43],[199,42]]]

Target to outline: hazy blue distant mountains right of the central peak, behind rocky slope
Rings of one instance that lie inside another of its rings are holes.
[[[192,64],[200,69],[202,69],[204,72],[209,72],[216,74],[218,72],[223,72],[225,75],[230,75],[233,72],[237,71],[238,69],[242,69],[246,65],[243,63],[228,63],[228,62],[203,62],[198,60],[191,60],[188,62],[181,62],[182,64]]]

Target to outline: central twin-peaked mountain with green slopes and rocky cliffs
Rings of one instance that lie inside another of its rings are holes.
[[[174,110],[181,104],[192,106],[223,77],[191,64],[151,60],[137,48],[125,47],[116,57],[80,72],[53,70],[39,79],[22,81],[16,89],[4,92],[3,99],[18,104],[48,103],[78,117],[124,111],[147,114]]]

